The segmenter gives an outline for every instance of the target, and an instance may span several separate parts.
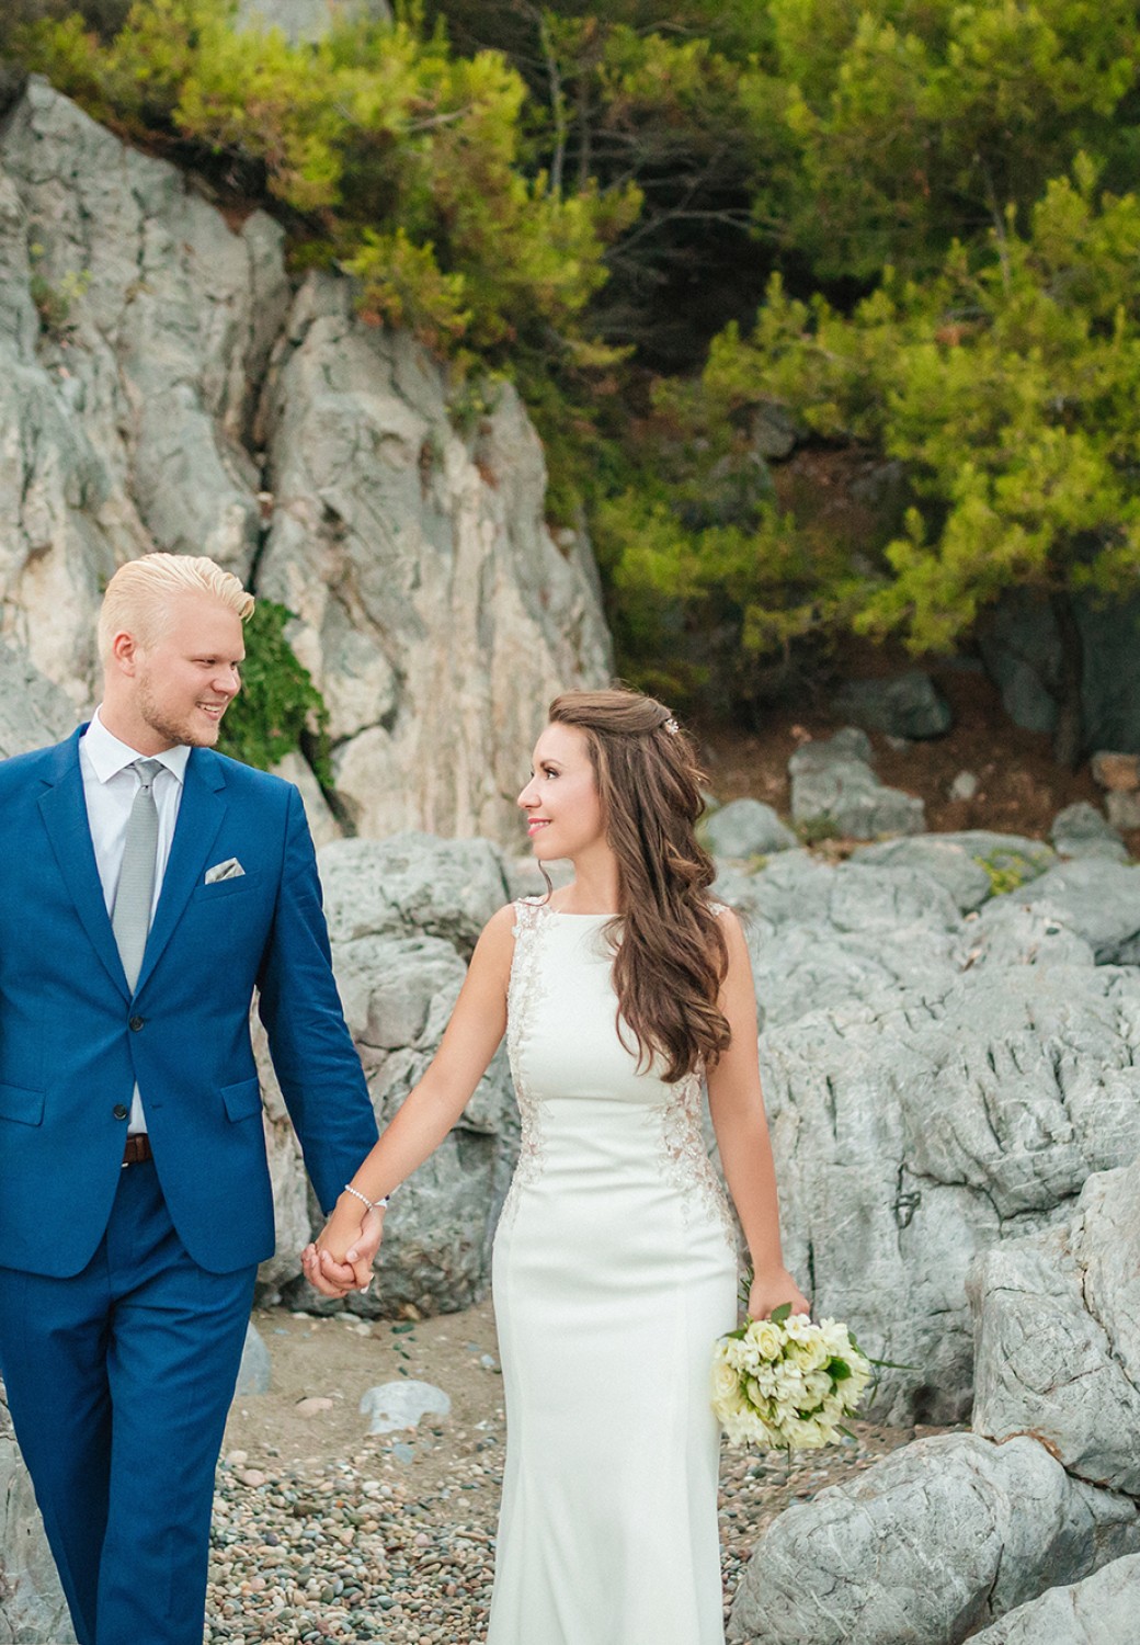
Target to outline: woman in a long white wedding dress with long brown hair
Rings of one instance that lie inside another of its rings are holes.
[[[507,1462],[487,1645],[722,1645],[709,1367],[737,1252],[704,1086],[748,1311],[808,1311],[780,1253],[748,952],[709,901],[699,773],[666,707],[566,693],[533,760],[535,857],[574,880],[487,923],[434,1061],[304,1267],[367,1285],[383,1204],[507,1033],[523,1135],[492,1270]]]

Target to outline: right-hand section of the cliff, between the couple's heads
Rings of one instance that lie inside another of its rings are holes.
[[[543,523],[543,452],[513,388],[466,444],[444,372],[364,326],[345,281],[311,276],[263,411],[276,508],[258,591],[298,614],[354,829],[518,836],[546,702],[602,683],[610,646],[581,549]]]

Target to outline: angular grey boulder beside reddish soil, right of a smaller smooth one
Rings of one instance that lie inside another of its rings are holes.
[[[793,819],[829,826],[849,839],[921,834],[926,827],[923,801],[885,788],[869,760],[870,742],[852,727],[798,748],[788,762]]]

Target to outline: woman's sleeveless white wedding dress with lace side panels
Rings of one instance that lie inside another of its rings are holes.
[[[515,906],[523,1138],[494,1253],[507,1466],[487,1645],[722,1645],[709,1367],[737,1262],[701,1081],[637,1073],[607,916]]]

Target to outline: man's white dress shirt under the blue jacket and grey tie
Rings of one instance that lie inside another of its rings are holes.
[[[127,822],[130,808],[138,793],[138,776],[128,767],[135,760],[158,760],[163,767],[155,776],[153,795],[158,811],[158,857],[155,860],[155,900],[150,908],[151,920],[158,908],[158,897],[163,890],[163,875],[169,859],[178,808],[183,799],[183,780],[189,748],[179,745],[165,748],[163,753],[143,755],[138,748],[128,747],[107,730],[99,709],[95,709],[90,725],[79,739],[79,770],[84,780],[84,799],[87,801],[87,826],[90,842],[95,847],[95,865],[99,882],[104,888],[107,913],[115,906],[118,875],[123,867],[123,849],[127,846]],[[135,1086],[135,1097],[130,1105],[128,1132],[146,1130],[143,1104]]]

